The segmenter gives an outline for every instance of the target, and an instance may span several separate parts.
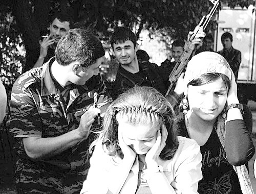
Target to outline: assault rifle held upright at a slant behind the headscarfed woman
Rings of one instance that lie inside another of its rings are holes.
[[[196,35],[198,32],[202,32],[205,30],[206,26],[208,25],[212,15],[214,15],[217,7],[219,6],[219,0],[209,0],[212,4],[214,4],[214,7],[211,8],[210,13],[208,15],[204,15],[201,19],[199,25],[196,26],[194,33],[190,36],[190,38],[186,41],[183,52],[177,61],[173,71],[169,75],[169,82],[170,86],[165,94],[167,96],[171,90],[174,89],[175,83],[177,82],[178,78],[180,77],[182,71],[185,69],[186,64],[188,62],[189,57],[191,56],[193,52],[194,45],[192,45],[192,41],[196,39]]]

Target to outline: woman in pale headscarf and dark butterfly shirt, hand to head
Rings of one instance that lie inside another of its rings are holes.
[[[199,193],[253,193],[244,164],[254,147],[229,64],[217,53],[202,52],[188,62],[184,85],[179,134],[201,147]]]

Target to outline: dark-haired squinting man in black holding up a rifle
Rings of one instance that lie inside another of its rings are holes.
[[[191,35],[191,32],[189,35]],[[201,43],[201,38],[204,35],[204,32],[198,33],[197,38],[193,40],[193,45]],[[137,38],[131,30],[123,27],[117,28],[111,38],[111,45],[119,62],[116,80],[113,84],[112,97],[114,99],[135,86],[151,86],[165,95],[169,86],[168,76],[171,71],[167,68],[155,66],[150,62],[138,62],[136,56],[138,50]],[[175,89],[166,96],[173,107],[181,100],[183,94],[182,82],[183,74],[177,81]]]

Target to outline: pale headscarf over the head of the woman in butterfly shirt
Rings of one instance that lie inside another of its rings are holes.
[[[184,84],[188,84],[203,74],[217,72],[231,81],[231,68],[224,57],[214,52],[202,52],[195,55],[187,64]]]

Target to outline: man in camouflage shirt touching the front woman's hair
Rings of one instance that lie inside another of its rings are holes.
[[[80,192],[95,137],[90,130],[100,113],[89,106],[110,100],[98,75],[104,54],[91,33],[73,29],[60,39],[55,58],[15,82],[10,131],[17,142],[18,193]]]

